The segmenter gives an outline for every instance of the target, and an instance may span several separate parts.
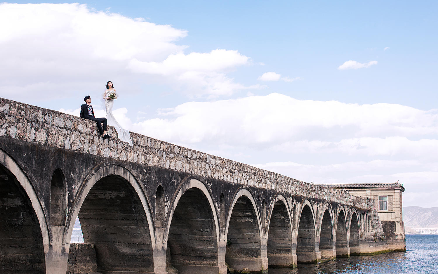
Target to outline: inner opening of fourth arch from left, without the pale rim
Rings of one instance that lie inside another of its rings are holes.
[[[260,228],[254,206],[247,196],[240,196],[228,224],[225,261],[234,270],[244,267],[251,270],[250,261],[261,258],[260,245]]]

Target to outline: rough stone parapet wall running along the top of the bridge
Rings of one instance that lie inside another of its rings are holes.
[[[97,134],[95,122],[56,110],[0,98],[0,114],[0,136],[329,200],[363,209],[374,210],[375,207],[374,201],[370,198],[352,196],[343,191],[306,183],[135,132],[131,132],[134,143],[132,147],[116,138],[103,140]],[[108,127],[108,132],[116,135],[111,126]]]

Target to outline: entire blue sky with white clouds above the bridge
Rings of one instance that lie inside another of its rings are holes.
[[[133,132],[438,206],[438,4],[333,2],[0,4],[0,96],[78,115],[111,80]]]

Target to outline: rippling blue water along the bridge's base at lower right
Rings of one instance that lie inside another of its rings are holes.
[[[269,268],[269,274],[437,274],[438,235],[406,235],[406,252],[353,256],[297,269]]]

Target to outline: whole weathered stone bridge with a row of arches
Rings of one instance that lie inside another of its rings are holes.
[[[81,273],[81,252],[100,273],[225,274],[391,250],[372,199],[95,128],[0,98],[2,273]]]

